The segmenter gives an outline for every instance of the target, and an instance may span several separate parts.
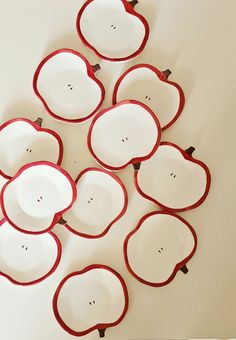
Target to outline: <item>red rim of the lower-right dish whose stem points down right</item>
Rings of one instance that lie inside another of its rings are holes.
[[[144,280],[143,278],[141,278],[140,276],[138,276],[131,268],[130,264],[129,264],[129,259],[128,259],[128,242],[129,242],[129,239],[133,236],[133,234],[136,233],[136,231],[138,231],[138,229],[142,226],[143,222],[148,219],[150,216],[153,216],[153,215],[159,215],[159,214],[162,214],[162,215],[170,215],[170,216],[173,216],[173,217],[176,217],[177,219],[179,219],[181,222],[183,222],[187,228],[189,228],[189,230],[191,231],[192,235],[193,235],[193,238],[194,238],[194,247],[193,247],[193,250],[192,252],[185,258],[183,259],[181,262],[177,263],[175,268],[174,268],[174,271],[173,273],[171,274],[171,276],[164,282],[149,282],[149,281],[146,281]],[[124,252],[124,258],[125,258],[125,264],[127,266],[127,269],[129,271],[129,273],[135,278],[137,279],[139,282],[145,284],[145,285],[148,285],[148,286],[152,286],[152,287],[162,287],[162,286],[165,286],[167,285],[168,283],[170,283],[174,277],[176,276],[177,272],[193,257],[193,255],[195,254],[196,252],[196,249],[197,249],[197,235],[196,235],[196,232],[195,230],[193,229],[193,227],[186,221],[184,220],[182,217],[172,213],[172,212],[163,212],[163,211],[154,211],[154,212],[151,212],[149,214],[146,214],[144,215],[140,221],[138,222],[138,225],[136,226],[136,228],[134,230],[132,230],[125,238],[125,241],[124,241],[124,245],[123,245],[123,252]]]

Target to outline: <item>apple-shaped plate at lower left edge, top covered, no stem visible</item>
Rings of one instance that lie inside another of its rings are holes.
[[[28,235],[0,222],[0,276],[22,286],[45,280],[57,268],[61,244],[52,233]]]

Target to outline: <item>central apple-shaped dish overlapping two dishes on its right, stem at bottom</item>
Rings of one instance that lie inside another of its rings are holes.
[[[146,105],[127,100],[96,115],[89,128],[88,147],[99,164],[115,171],[149,159],[160,137],[155,114]]]

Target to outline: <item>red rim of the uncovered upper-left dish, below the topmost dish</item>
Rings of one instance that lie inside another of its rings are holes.
[[[87,74],[88,76],[93,79],[97,85],[99,86],[100,90],[101,90],[101,100],[99,102],[99,104],[97,105],[97,107],[95,108],[95,110],[93,112],[91,112],[88,116],[85,116],[83,118],[77,118],[77,119],[68,119],[68,118],[63,118],[58,116],[56,113],[52,112],[51,109],[49,108],[49,106],[47,105],[46,101],[44,100],[44,98],[41,96],[41,94],[38,91],[38,87],[37,87],[37,83],[38,83],[38,77],[39,77],[39,73],[42,69],[42,67],[44,66],[44,64],[51,58],[53,58],[55,55],[60,54],[60,53],[71,53],[76,55],[77,57],[79,57],[80,59],[83,60],[83,62],[85,63],[86,67],[87,67]],[[55,119],[60,120],[62,122],[69,122],[69,123],[82,123],[85,120],[91,118],[101,107],[104,98],[105,98],[105,88],[103,86],[103,84],[95,77],[94,75],[94,71],[92,66],[89,64],[88,60],[79,52],[69,49],[69,48],[62,48],[59,50],[56,50],[52,53],[50,53],[46,58],[44,58],[41,63],[39,64],[39,66],[37,67],[34,77],[33,77],[33,89],[34,92],[36,94],[36,96],[41,100],[41,102],[43,103],[45,109],[47,110],[47,112]]]

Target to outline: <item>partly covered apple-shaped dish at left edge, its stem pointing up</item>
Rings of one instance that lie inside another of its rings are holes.
[[[50,161],[60,165],[63,144],[59,135],[35,122],[16,118],[0,126],[0,174],[11,178],[25,164]]]

